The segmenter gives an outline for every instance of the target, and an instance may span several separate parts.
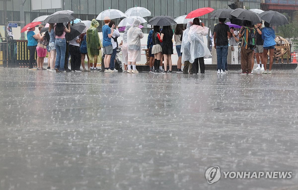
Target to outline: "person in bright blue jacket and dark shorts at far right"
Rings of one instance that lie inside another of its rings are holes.
[[[264,45],[263,45],[263,56],[264,60],[266,62],[264,63],[264,71],[262,71],[262,74],[271,74],[271,68],[272,68],[272,63],[273,63],[273,53],[274,53],[274,48],[276,45],[275,42],[275,33],[274,29],[270,27],[268,22],[264,22],[265,27],[262,30],[262,39],[264,40]],[[269,51],[269,71],[267,72],[266,70],[266,63],[267,63],[267,54]]]

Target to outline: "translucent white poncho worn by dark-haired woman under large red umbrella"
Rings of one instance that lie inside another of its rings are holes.
[[[208,58],[211,53],[208,46],[204,43],[203,35],[208,34],[209,28],[193,25],[188,32],[188,41],[190,42],[190,63],[193,63],[196,58]],[[183,54],[182,54],[183,55]]]

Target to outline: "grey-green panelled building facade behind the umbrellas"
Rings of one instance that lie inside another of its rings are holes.
[[[97,15],[108,9],[118,9],[125,12],[131,7],[145,7],[151,11],[151,17],[147,17],[147,20],[157,15],[168,15],[172,17],[178,17],[185,15],[192,10],[201,7],[211,7],[215,10],[221,8],[227,8],[228,4],[233,1],[230,0],[61,0],[61,9],[49,9],[49,10],[32,10],[31,3],[35,0],[25,1],[25,24],[30,23],[34,18],[41,15],[50,15],[59,10],[72,10],[75,13],[75,18],[81,20],[92,20]],[[240,0],[241,1],[241,0]],[[20,21],[20,4],[22,0],[7,1],[7,20],[8,21]],[[259,9],[260,0],[245,0],[244,6],[250,9]],[[208,23],[209,15],[204,15],[200,19],[206,26],[214,26],[217,23],[216,20],[210,19]],[[117,19],[116,23],[119,23],[121,19]],[[103,24],[100,22],[100,24]],[[3,16],[3,1],[0,1],[0,25],[4,25]],[[143,32],[147,32],[147,26],[143,29]]]

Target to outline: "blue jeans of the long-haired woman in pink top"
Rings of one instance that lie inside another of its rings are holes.
[[[55,68],[58,68],[60,71],[64,71],[64,61],[65,61],[65,51],[66,51],[65,38],[56,38],[55,48],[56,48]]]

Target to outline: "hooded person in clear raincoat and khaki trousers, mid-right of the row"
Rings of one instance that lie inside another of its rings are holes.
[[[190,42],[188,41],[188,32],[190,30],[190,27],[193,25],[192,21],[187,22],[187,27],[183,31],[182,35],[182,43],[181,43],[181,62],[184,64],[183,67],[183,74],[188,74],[188,68],[190,74],[193,74],[193,64],[190,63]]]

